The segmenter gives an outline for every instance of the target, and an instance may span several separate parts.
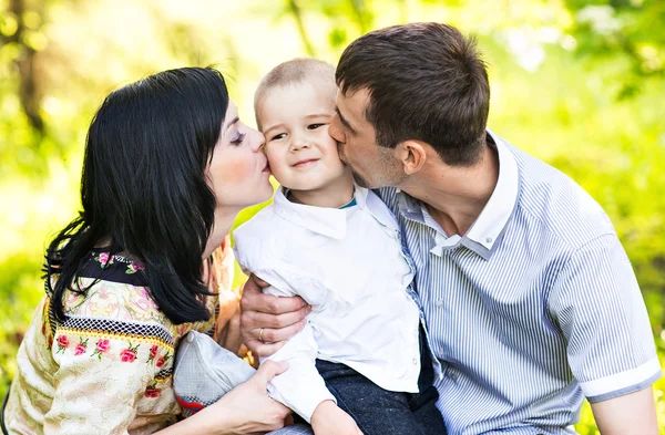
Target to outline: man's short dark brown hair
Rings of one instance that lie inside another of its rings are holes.
[[[345,95],[369,91],[366,117],[380,146],[419,139],[448,165],[478,162],[490,85],[475,40],[456,28],[429,22],[367,33],[341,54],[336,81]]]

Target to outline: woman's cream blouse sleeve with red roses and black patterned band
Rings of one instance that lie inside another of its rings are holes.
[[[150,332],[160,327],[76,317],[58,327],[52,354],[59,369],[44,434],[124,435],[139,400],[171,400],[161,396],[158,373],[173,349]]]

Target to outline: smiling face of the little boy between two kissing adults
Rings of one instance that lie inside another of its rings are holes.
[[[328,135],[335,115],[334,86],[316,86],[316,82],[276,86],[264,96],[257,115],[270,172],[283,186],[315,190],[349,176]]]

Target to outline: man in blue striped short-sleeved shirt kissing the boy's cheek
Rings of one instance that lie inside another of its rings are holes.
[[[603,435],[657,434],[661,367],[616,232],[573,180],[487,130],[473,41],[436,23],[378,30],[345,50],[336,80],[329,134],[400,222],[448,432],[571,434],[586,397]],[[254,280],[242,307],[258,354],[307,313]]]

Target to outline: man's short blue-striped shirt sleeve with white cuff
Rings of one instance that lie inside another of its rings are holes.
[[[591,403],[640,391],[661,377],[646,307],[616,235],[591,240],[571,256],[552,289],[550,310]]]

